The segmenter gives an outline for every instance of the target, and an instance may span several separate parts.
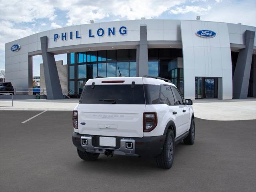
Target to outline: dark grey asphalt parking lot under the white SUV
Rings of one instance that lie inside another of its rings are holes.
[[[192,146],[178,144],[170,170],[153,159],[78,158],[71,111],[0,111],[1,192],[255,191],[256,120],[196,118]]]

